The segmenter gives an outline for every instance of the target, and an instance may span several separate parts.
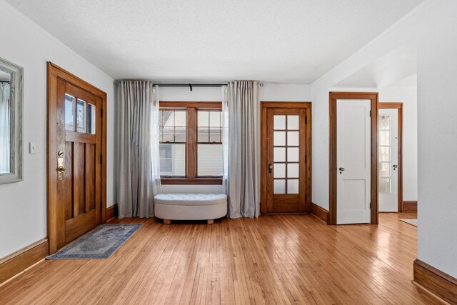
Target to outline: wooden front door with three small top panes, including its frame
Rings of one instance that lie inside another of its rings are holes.
[[[49,65],[50,253],[104,221],[106,94]]]

